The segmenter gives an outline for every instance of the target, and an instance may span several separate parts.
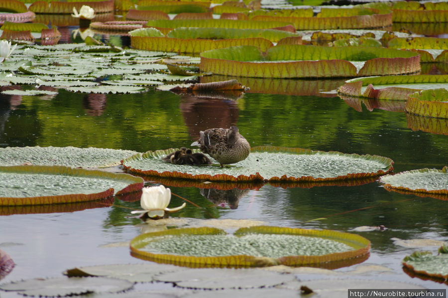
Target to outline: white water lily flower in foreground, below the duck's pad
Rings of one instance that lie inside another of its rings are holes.
[[[174,212],[185,207],[186,203],[176,208],[167,208],[171,200],[171,190],[163,185],[143,187],[140,206],[143,210],[131,211],[132,214],[148,213],[149,217],[163,217],[165,211]]]

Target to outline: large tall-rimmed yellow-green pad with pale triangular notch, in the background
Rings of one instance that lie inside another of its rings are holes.
[[[419,61],[417,53],[385,48],[277,45],[263,54],[254,46],[236,46],[201,53],[201,70],[242,77],[355,77],[415,73]]]

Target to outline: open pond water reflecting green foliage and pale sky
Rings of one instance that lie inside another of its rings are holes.
[[[353,104],[336,95],[304,91],[309,86],[330,86],[325,90],[330,91],[341,82],[283,80],[281,84],[295,87],[285,94],[268,94],[269,88],[261,93],[252,89],[236,100],[160,91],[86,95],[59,90],[53,98],[0,95],[0,146],[145,152],[188,147],[200,130],[237,125],[251,146],[376,154],[392,158],[395,172],[441,169],[448,164],[448,136],[426,132],[423,127],[418,130],[416,121],[425,119],[416,120],[404,113],[403,103],[393,102],[398,111],[387,111],[381,107],[390,103],[366,101],[374,107],[369,110],[361,102]],[[265,80],[259,84],[277,86],[279,81]],[[448,124],[446,120],[438,123],[442,128]],[[359,226],[384,225],[384,231],[354,232],[371,241],[370,257],[363,264],[336,271],[380,265],[388,273],[369,278],[446,288],[436,282],[413,279],[401,266],[404,256],[415,250],[436,252],[437,246],[406,248],[391,238],[448,241],[447,201],[389,192],[377,181],[356,186],[264,185],[238,191],[228,201],[223,195],[207,199],[203,195],[206,191],[197,187],[169,187],[200,206],[187,204],[173,217],[252,219],[268,225],[348,232]],[[173,196],[170,206],[182,203],[182,199]],[[113,206],[83,208],[0,207],[0,249],[17,264],[2,282],[60,276],[66,269],[79,266],[142,262],[130,256],[128,248],[128,241],[144,230],[141,220],[130,217],[130,210],[140,208],[138,198],[115,199]],[[313,221],[316,218],[325,219]]]

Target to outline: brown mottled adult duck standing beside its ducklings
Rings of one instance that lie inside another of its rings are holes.
[[[246,159],[250,152],[249,142],[236,126],[228,129],[212,128],[199,132],[199,140],[191,144],[215,158],[220,166]]]

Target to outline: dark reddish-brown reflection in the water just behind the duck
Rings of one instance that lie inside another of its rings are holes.
[[[200,131],[209,128],[227,128],[238,120],[236,101],[184,95],[180,110],[190,136],[196,138]]]

